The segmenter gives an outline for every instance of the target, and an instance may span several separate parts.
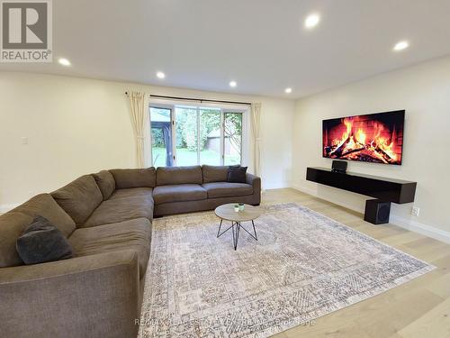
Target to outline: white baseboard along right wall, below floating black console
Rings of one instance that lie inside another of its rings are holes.
[[[354,210],[358,213],[364,213],[364,211],[362,211],[362,210],[356,210],[355,206],[348,205],[345,201],[341,200],[337,203],[336,201],[333,201],[331,199],[327,199],[322,196],[317,196],[316,192],[311,188],[303,187],[301,185],[293,185],[293,188],[296,190],[302,191],[305,194],[324,199],[324,200],[334,203],[338,206],[344,206],[347,209]],[[437,226],[422,224],[417,221],[413,221],[413,220],[410,220],[410,219],[407,219],[407,218],[404,218],[404,217],[401,217],[398,215],[391,215],[391,218],[389,221],[390,221],[389,222],[390,224],[400,226],[401,228],[410,230],[414,233],[420,233],[425,236],[434,238],[437,241],[450,243],[450,233],[446,232],[445,230],[441,230],[441,229],[437,228]]]

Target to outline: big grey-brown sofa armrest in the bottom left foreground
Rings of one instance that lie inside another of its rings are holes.
[[[6,337],[136,337],[136,319],[136,251],[0,269]]]

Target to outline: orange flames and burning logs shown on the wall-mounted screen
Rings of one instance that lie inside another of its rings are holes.
[[[390,132],[383,123],[377,122],[371,122],[371,128],[355,128],[352,118],[345,118],[342,123],[345,125],[344,131],[340,138],[335,138],[331,142],[330,157],[347,160],[364,158],[383,163],[399,160],[395,152],[395,128]]]

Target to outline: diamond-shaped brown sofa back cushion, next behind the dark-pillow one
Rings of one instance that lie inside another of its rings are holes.
[[[91,175],[76,178],[67,186],[52,192],[51,196],[72,217],[76,225],[84,224],[87,217],[103,201],[102,192]]]

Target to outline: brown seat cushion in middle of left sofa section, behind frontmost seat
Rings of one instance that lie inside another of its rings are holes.
[[[113,198],[103,201],[81,227],[112,224],[142,217],[149,221],[153,219],[153,198],[151,196]]]

